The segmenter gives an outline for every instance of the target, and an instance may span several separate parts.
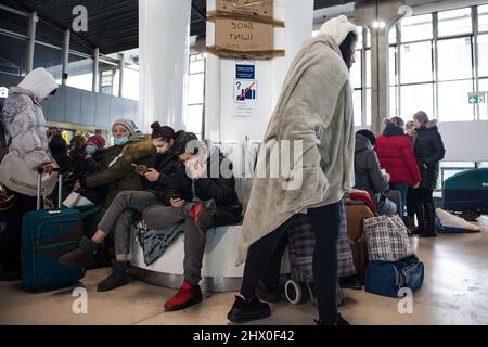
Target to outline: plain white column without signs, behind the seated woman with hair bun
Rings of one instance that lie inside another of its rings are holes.
[[[191,0],[139,1],[139,123],[184,129]]]

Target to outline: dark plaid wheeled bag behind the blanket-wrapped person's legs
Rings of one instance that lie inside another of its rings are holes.
[[[293,217],[288,227],[288,252],[292,279],[303,283],[313,283],[313,249],[316,236],[308,216],[298,214]],[[337,242],[338,277],[356,274],[352,252],[347,241],[346,208],[341,205],[341,226]]]

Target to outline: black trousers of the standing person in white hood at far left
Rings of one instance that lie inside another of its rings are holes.
[[[36,210],[37,198],[14,193],[13,207],[7,211],[7,230],[0,240],[0,264],[5,270],[21,270],[22,216]]]

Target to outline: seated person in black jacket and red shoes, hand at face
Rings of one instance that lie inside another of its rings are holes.
[[[172,208],[150,206],[142,216],[147,227],[155,229],[171,224],[182,217],[185,220],[184,281],[178,293],[165,303],[167,311],[182,310],[202,301],[198,283],[206,229],[242,220],[242,205],[235,191],[232,163],[217,147],[202,146],[192,132],[181,133],[175,140],[172,150],[187,167],[183,179],[190,183],[191,194],[169,197],[168,192],[166,198],[169,198]],[[178,178],[181,179],[181,176]]]

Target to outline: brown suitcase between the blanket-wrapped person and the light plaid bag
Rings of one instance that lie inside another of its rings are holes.
[[[374,217],[373,213],[367,205],[352,204],[346,205],[347,215],[347,239],[352,250],[352,259],[355,262],[357,277],[364,279],[365,267],[368,264],[368,249],[365,239],[363,236],[363,221],[367,218]]]

